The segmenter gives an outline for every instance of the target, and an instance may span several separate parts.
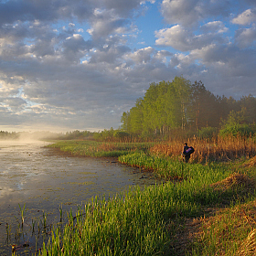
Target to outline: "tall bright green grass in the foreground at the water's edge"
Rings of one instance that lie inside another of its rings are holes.
[[[209,186],[230,172],[223,165],[184,165],[183,182],[137,187],[108,201],[92,198],[75,218],[69,214],[63,231],[55,229],[41,255],[169,255],[175,228],[168,223],[232,197]]]

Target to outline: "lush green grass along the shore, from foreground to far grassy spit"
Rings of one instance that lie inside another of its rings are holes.
[[[107,148],[95,142],[52,146],[73,155],[89,156],[106,156]],[[156,176],[164,177],[166,183],[143,190],[137,187],[107,201],[91,198],[75,216],[69,213],[69,223],[63,229],[55,227],[41,255],[180,255],[176,254],[174,244],[183,219],[202,217],[206,207],[223,205],[223,202],[229,207],[230,202],[249,196],[240,187],[222,191],[210,186],[237,171],[238,165],[186,165],[144,153],[146,144],[112,144],[109,148],[113,152],[125,151],[125,155],[119,157],[123,164],[153,170]],[[99,149],[102,151],[98,155]],[[178,182],[170,181],[173,177],[178,177]],[[193,255],[217,255],[216,241],[214,236],[206,235],[191,251]],[[227,240],[222,241],[224,247],[228,244]],[[227,248],[230,250],[235,251]]]

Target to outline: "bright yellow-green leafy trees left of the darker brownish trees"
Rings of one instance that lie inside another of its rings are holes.
[[[164,135],[171,129],[184,130],[188,123],[190,81],[183,77],[151,83],[144,99],[136,101],[130,112],[123,112],[122,129],[125,132]]]

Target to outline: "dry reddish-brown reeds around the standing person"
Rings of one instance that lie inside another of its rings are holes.
[[[155,144],[151,147],[151,154],[165,155],[177,158],[182,154],[184,141],[170,141],[169,143]],[[208,161],[227,161],[240,157],[250,158],[256,155],[255,138],[217,137],[212,140],[202,140],[196,137],[187,140],[187,144],[195,148],[191,161],[196,163]]]

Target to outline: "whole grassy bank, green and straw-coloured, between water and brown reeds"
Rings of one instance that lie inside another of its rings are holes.
[[[41,255],[238,255],[240,245],[256,227],[248,213],[254,207],[253,165],[186,165],[150,153],[152,144],[65,142],[51,146],[73,155],[119,156],[123,164],[154,171],[166,182],[108,201],[91,198],[91,203],[69,213],[64,228],[55,227]],[[219,211],[222,208],[226,209]],[[212,214],[213,209],[217,214]],[[189,225],[197,228],[192,239],[187,235]]]

